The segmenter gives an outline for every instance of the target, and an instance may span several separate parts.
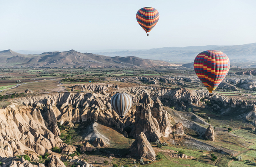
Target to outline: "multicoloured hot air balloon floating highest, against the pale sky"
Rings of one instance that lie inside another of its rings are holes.
[[[159,20],[159,12],[151,7],[141,8],[136,14],[136,19],[148,36],[148,32],[154,28]]]

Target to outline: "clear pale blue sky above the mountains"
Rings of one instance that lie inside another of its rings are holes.
[[[142,7],[160,19],[146,36]],[[256,42],[256,0],[0,0],[0,49],[98,50]]]

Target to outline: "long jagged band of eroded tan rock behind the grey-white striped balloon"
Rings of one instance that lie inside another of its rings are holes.
[[[97,89],[94,86],[88,86],[87,88],[108,92],[109,87],[116,86],[101,85]],[[204,90],[192,91],[184,88],[171,89],[157,86],[133,86],[123,87],[119,90],[114,89],[119,92],[128,92],[131,94],[133,101],[136,102],[136,109],[132,107],[123,120],[111,109],[110,96],[115,91],[109,92],[109,95],[99,92],[63,92],[13,99],[12,104],[6,109],[0,109],[1,156],[28,154],[36,160],[38,155],[44,155],[46,152],[50,153],[52,147],[60,147],[63,150],[67,145],[62,143],[58,137],[60,131],[57,122],[72,125],[76,122],[99,121],[134,138],[137,138],[143,132],[148,141],[156,141],[161,140],[162,136],[167,137],[172,132],[182,134],[181,125],[178,122],[181,122],[184,127],[191,128],[204,135],[206,128],[200,124],[207,126],[209,124],[192,112],[179,112],[177,110],[186,111],[188,107],[204,104],[206,100],[214,103],[213,110],[218,109],[218,106],[247,109],[250,111],[250,116],[247,115],[247,118],[245,114],[245,119],[254,119],[255,121],[256,118],[253,116],[256,109],[255,101],[227,98],[215,93],[212,97],[209,97],[209,93]],[[176,110],[167,107],[171,105],[175,106]],[[176,125],[172,126],[170,122]],[[200,124],[197,124],[197,122]],[[131,132],[125,132],[127,127],[131,129]],[[90,142],[92,143],[94,140]],[[97,140],[100,141],[100,139]],[[106,142],[104,138],[102,140]],[[90,150],[89,147],[91,146],[89,145],[86,144],[83,148],[81,147],[81,150]],[[97,146],[103,147],[103,145],[99,144]],[[72,151],[68,150],[66,152],[71,153]]]

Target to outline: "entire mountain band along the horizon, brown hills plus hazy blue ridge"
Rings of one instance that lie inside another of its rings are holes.
[[[170,63],[191,63],[196,55],[205,50],[219,50],[224,52],[231,63],[250,63],[256,66],[256,43],[234,46],[187,46],[164,47],[148,50],[126,50],[111,52],[81,53],[74,50],[67,52],[44,52],[20,50],[0,51],[0,66],[47,66],[47,67],[148,67],[172,66]],[[118,50],[118,49],[117,49]],[[36,53],[35,55],[27,55]],[[149,60],[151,59],[151,60]],[[167,63],[167,62],[169,63]],[[185,65],[187,67],[192,64]],[[184,66],[184,67],[185,67]],[[251,66],[252,67],[252,66]]]

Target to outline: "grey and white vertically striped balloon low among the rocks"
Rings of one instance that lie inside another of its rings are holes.
[[[124,118],[125,114],[131,108],[131,105],[131,96],[126,93],[116,93],[111,98],[111,107],[121,118]]]

